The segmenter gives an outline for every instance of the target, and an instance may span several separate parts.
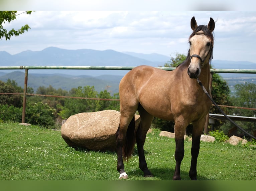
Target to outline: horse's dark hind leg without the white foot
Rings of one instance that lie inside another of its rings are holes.
[[[145,154],[144,154],[144,143],[146,134],[152,123],[153,116],[150,115],[144,108],[139,105],[138,108],[140,114],[140,126],[136,132],[136,143],[139,154],[139,167],[144,172],[145,177],[153,176],[148,170]]]

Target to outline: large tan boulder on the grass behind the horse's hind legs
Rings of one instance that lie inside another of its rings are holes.
[[[116,147],[115,132],[120,121],[120,112],[104,110],[78,113],[70,116],[61,126],[61,136],[71,147],[89,150],[111,150]],[[135,129],[138,129],[139,115],[135,115]]]

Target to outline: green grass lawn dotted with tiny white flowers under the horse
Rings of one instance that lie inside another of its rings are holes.
[[[145,157],[154,177],[144,178],[135,152],[125,170],[129,180],[171,180],[175,168],[175,141],[147,135]],[[191,142],[185,141],[181,179],[190,180]],[[256,151],[249,146],[201,142],[199,180],[256,180]],[[17,123],[0,124],[0,180],[118,180],[115,152],[69,147],[60,131]]]

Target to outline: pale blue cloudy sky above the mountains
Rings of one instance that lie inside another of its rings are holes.
[[[256,63],[256,11],[36,11],[4,23],[7,30],[25,24],[31,29],[10,40],[1,39],[0,51],[17,54],[58,47],[186,55],[193,16],[198,25],[207,25],[210,17],[216,22],[214,60]]]

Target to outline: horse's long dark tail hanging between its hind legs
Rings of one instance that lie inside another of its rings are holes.
[[[128,129],[126,131],[126,138],[123,145],[123,158],[127,160],[131,157],[134,144],[136,142],[136,131],[135,131],[135,116],[133,116]]]

